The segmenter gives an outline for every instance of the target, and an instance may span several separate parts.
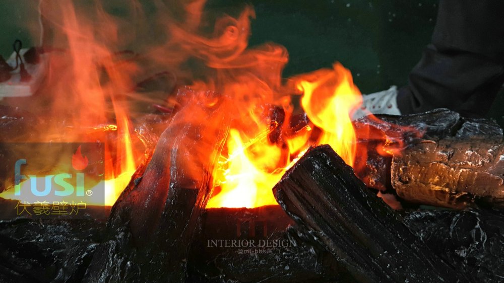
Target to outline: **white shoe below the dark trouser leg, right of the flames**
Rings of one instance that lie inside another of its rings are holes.
[[[354,111],[352,120],[369,114],[401,115],[397,107],[397,87],[392,86],[386,91],[363,95],[362,104]]]

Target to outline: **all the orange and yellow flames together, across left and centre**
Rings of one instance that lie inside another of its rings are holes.
[[[87,17],[77,13],[72,2],[44,1],[42,6],[44,18],[50,19],[52,26],[48,32],[54,37],[52,43],[63,46],[64,51],[44,55],[50,68],[41,95],[9,102],[34,111],[44,109],[36,114],[50,122],[29,142],[105,144],[105,180],[95,184],[105,188],[105,205],[112,205],[128,185],[146,150],[137,146],[138,140],[132,134],[138,125],[135,118],[141,115],[136,111],[136,107],[140,108],[137,102],[157,105],[158,109],[167,110],[164,112],[171,112],[171,107],[191,110],[191,115],[185,117],[177,116],[185,113],[180,109],[173,110],[170,126],[180,131],[184,125],[190,124],[193,129],[208,119],[216,119],[208,114],[212,111],[206,110],[220,107],[216,106],[219,100],[230,102],[226,104],[230,106],[219,110],[230,120],[229,128],[225,129],[229,129],[228,135],[220,144],[225,144],[222,152],[198,148],[194,157],[178,161],[180,164],[166,165],[194,167],[209,163],[197,159],[220,155],[212,168],[177,168],[198,174],[211,171],[213,195],[207,207],[277,204],[271,189],[310,146],[329,144],[348,165],[357,166],[356,133],[350,117],[362,97],[350,71],[335,63],[332,68],[296,76],[284,83],[282,70],[288,61],[284,47],[267,43],[247,48],[250,18],[255,17],[252,8],[246,7],[236,18],[217,19],[211,32],[199,30],[207,27],[203,23],[204,0],[194,1],[177,13],[160,10],[163,17],[158,21],[166,32],[160,38],[165,37],[166,42],[144,47],[146,55],[142,62],[152,61],[153,68],[169,70],[167,73],[173,73],[175,83],[170,97],[154,99],[132,91],[133,78],[148,72],[143,72],[145,69],[138,62],[117,56],[122,50],[119,46],[144,42],[139,37],[150,34],[151,26],[140,22],[140,4],[132,1],[130,7],[135,26],[128,21],[114,20],[99,1],[92,16]],[[177,8],[180,7],[172,9]],[[186,18],[170,18],[173,14]],[[126,36],[120,37],[120,31]],[[175,85],[181,84],[195,90],[181,95],[181,100],[190,101],[185,105],[173,97],[177,93]],[[215,99],[211,96],[212,100],[205,106],[197,105],[202,103],[198,93],[207,91],[218,95]],[[291,101],[297,95],[301,96],[300,107]],[[304,114],[307,119],[297,123],[296,117]],[[213,126],[210,128],[216,130]],[[173,130],[174,135],[186,134],[177,130]],[[204,132],[194,135],[191,142],[195,144],[213,136]],[[177,140],[176,136],[173,138]],[[392,154],[395,148],[384,146],[379,150]],[[211,154],[203,154],[207,151]],[[85,167],[80,150],[74,156],[74,167]],[[15,199],[9,190],[0,196]],[[94,204],[103,204],[103,200]]]

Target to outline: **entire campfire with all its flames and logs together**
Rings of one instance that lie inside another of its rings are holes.
[[[283,78],[283,46],[247,46],[251,7],[211,31],[205,1],[181,19],[158,7],[166,41],[137,54],[119,49],[131,23],[101,5],[93,18],[44,5],[47,74],[0,107],[0,279],[502,276],[495,122],[447,109],[354,120],[362,96],[350,70]],[[75,214],[50,215],[56,202]]]

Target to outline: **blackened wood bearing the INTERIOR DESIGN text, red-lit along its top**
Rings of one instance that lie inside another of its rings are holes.
[[[304,283],[351,278],[330,253],[291,225],[279,205],[207,209],[201,238],[193,244],[188,262],[189,281]]]

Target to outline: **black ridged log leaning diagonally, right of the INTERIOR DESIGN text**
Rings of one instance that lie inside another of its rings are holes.
[[[273,188],[286,213],[362,282],[464,282],[325,145],[311,148]]]

